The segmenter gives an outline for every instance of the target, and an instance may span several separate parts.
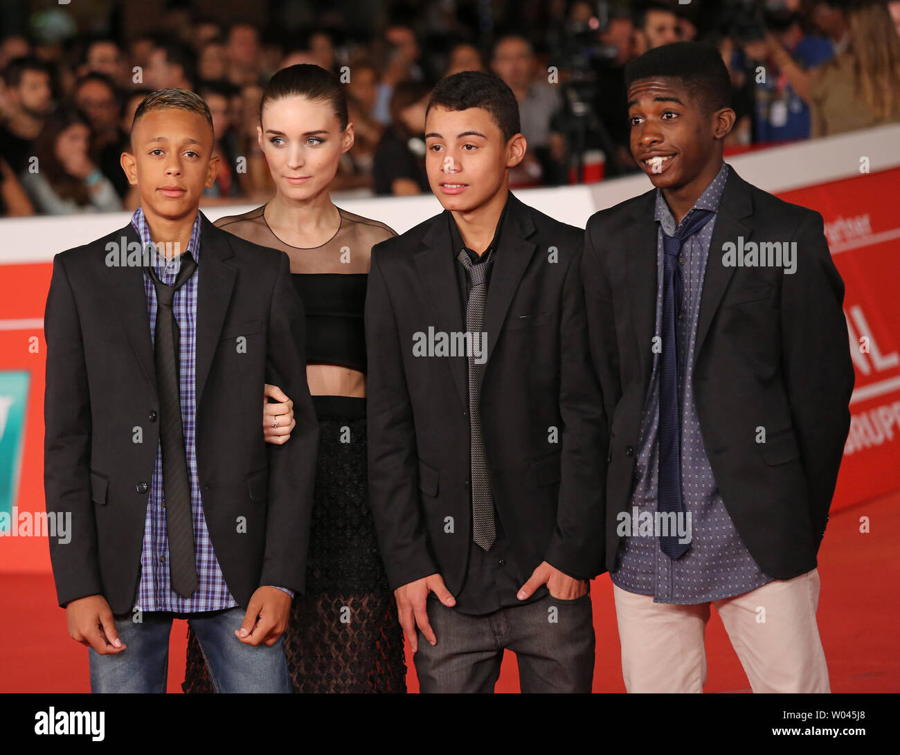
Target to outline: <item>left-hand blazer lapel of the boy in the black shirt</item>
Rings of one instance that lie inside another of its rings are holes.
[[[450,236],[447,233],[447,215],[445,210],[435,218],[422,238],[423,247],[416,252],[414,259],[419,268],[419,277],[425,288],[426,299],[431,309],[432,323],[436,332],[463,333],[465,319],[460,303],[459,286],[456,283],[453,250],[450,248]],[[453,373],[456,391],[465,406],[468,389],[465,386],[466,364],[464,356],[449,356],[446,362]]]

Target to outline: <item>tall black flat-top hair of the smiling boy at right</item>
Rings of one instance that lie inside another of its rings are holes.
[[[718,49],[707,42],[672,42],[626,65],[626,88],[647,78],[677,79],[707,114],[731,107],[731,76]]]

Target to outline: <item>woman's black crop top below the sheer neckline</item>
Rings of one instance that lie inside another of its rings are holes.
[[[295,273],[306,315],[306,363],[365,373],[365,273]]]

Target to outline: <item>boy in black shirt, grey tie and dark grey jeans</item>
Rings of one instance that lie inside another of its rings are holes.
[[[526,150],[497,76],[438,83],[441,214],[373,249],[369,485],[424,692],[590,692],[607,421],[590,365],[583,233],[509,193]]]

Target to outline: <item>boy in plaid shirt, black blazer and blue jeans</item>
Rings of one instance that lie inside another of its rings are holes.
[[[212,143],[196,94],[150,94],[122,155],[138,211],[53,261],[44,482],[72,535],[50,556],[96,692],[164,692],[173,616],[218,691],[291,691],[318,442],[302,304],[284,253],[198,211]],[[293,397],[284,444],[259,424],[266,382]]]

